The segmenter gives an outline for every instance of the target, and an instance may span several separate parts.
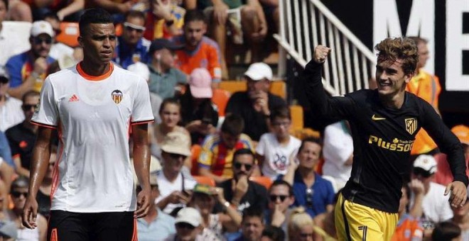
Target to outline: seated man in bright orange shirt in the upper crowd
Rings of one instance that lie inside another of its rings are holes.
[[[186,74],[190,74],[196,68],[208,69],[212,75],[212,87],[216,87],[222,77],[220,47],[214,40],[204,36],[207,32],[207,21],[201,11],[187,11],[184,18],[184,35],[175,41],[185,47],[176,51],[178,55],[176,65]]]

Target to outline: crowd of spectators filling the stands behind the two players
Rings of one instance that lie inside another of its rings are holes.
[[[61,23],[77,21],[85,7],[100,7],[114,14],[120,29],[114,63],[147,80],[156,118],[149,126],[157,162],[152,206],[137,220],[139,240],[334,240],[335,202],[353,164],[350,128],[342,120],[328,125],[322,138],[292,134],[290,108],[269,92],[274,74],[259,52],[279,25],[278,4],[0,0],[0,237],[45,240],[60,136],[38,194],[38,228],[25,229],[19,217],[37,133],[30,120],[45,77],[82,60],[80,45],[58,41]],[[28,35],[12,34],[7,22],[30,22]],[[424,40],[415,41],[425,49]],[[232,94],[220,115],[212,97],[229,79],[230,44],[249,46],[252,64],[243,74],[246,91]],[[411,82],[408,90],[415,89]],[[469,128],[459,125],[453,133],[469,159]],[[435,147],[414,153],[393,240],[469,239],[469,202],[451,208],[443,196],[442,185],[452,177]]]

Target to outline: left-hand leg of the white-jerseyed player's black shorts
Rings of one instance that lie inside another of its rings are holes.
[[[90,222],[82,213],[50,211],[48,238],[50,241],[85,241],[88,240]]]

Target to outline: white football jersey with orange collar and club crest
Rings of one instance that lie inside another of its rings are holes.
[[[135,210],[129,130],[153,121],[144,79],[114,65],[99,77],[80,64],[50,74],[31,121],[58,129],[51,210]]]

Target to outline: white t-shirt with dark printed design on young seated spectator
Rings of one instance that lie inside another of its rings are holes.
[[[290,156],[296,155],[301,140],[290,136],[287,144],[280,144],[273,133],[265,133],[261,136],[256,147],[256,152],[264,156],[264,164],[262,164],[262,174],[269,176],[275,180],[277,176],[286,174],[289,167]]]

